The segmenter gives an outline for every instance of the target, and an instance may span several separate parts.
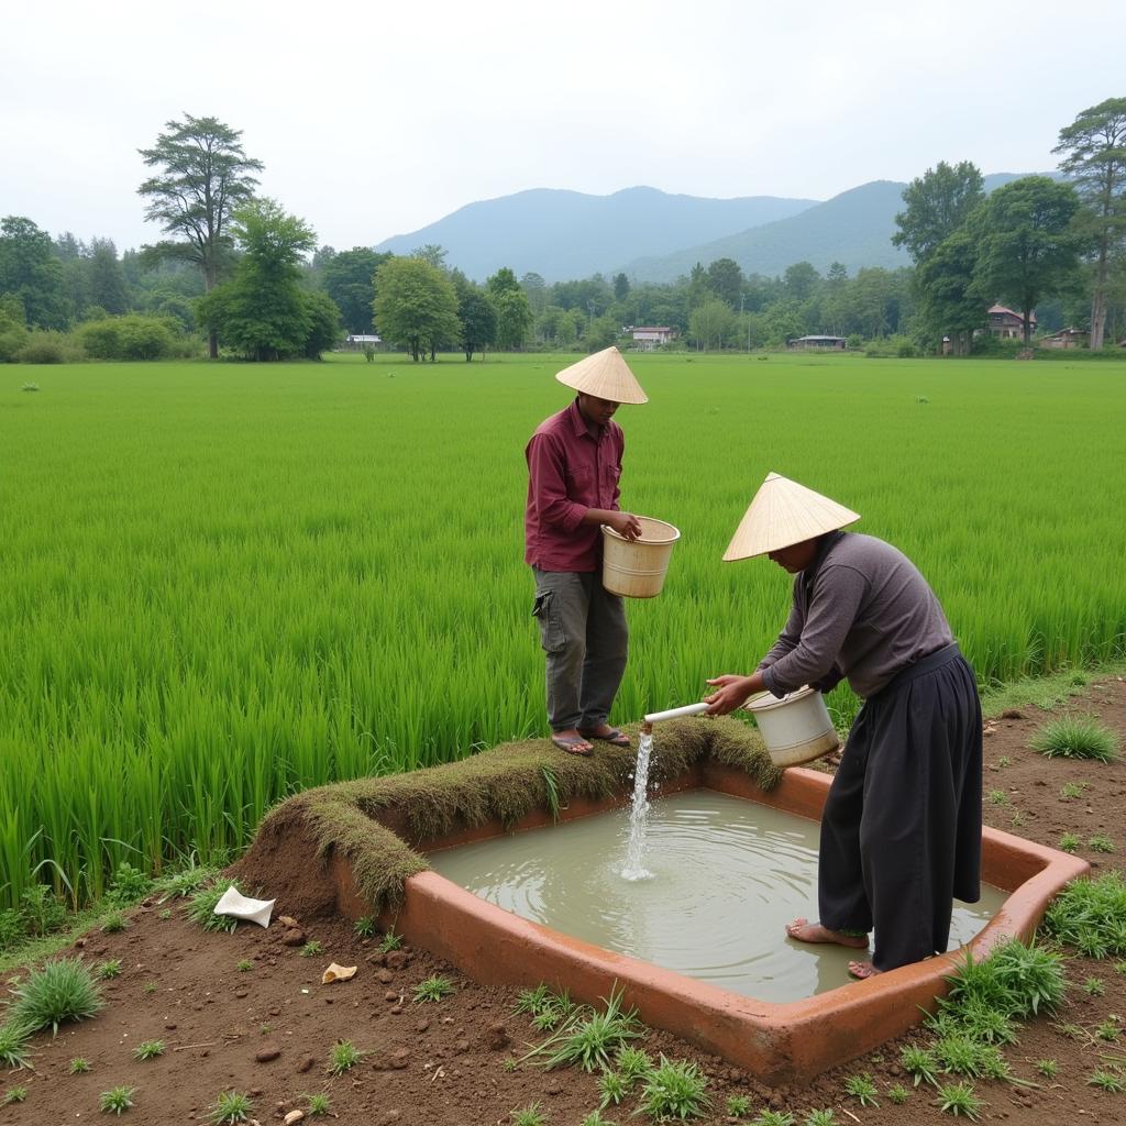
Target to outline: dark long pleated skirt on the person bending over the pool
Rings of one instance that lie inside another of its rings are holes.
[[[877,969],[945,951],[955,897],[981,894],[982,716],[957,645],[860,708],[821,820],[817,899],[831,930],[875,929]]]

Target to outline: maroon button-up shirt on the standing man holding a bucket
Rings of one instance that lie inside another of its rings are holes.
[[[542,571],[597,571],[602,529],[582,518],[592,508],[616,510],[625,436],[613,419],[597,430],[575,400],[545,419],[528,441],[528,507],[524,560]]]

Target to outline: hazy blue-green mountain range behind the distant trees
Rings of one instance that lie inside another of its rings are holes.
[[[1024,175],[1024,173],[1020,173]],[[1018,178],[998,172],[985,188]],[[500,267],[547,282],[625,272],[634,282],[672,282],[696,262],[733,258],[744,274],[780,275],[794,262],[821,272],[908,265],[892,245],[905,184],[873,180],[831,199],[745,196],[709,199],[625,188],[608,196],[535,188],[479,200],[375,249],[399,254],[436,243],[446,263],[482,282]]]

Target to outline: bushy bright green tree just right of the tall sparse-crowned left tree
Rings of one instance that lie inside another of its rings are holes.
[[[252,199],[231,224],[243,254],[234,276],[199,301],[202,319],[223,343],[251,359],[315,358],[337,334],[339,313],[322,293],[301,286],[312,229],[272,199]]]

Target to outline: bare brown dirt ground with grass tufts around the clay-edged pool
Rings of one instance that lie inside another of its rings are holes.
[[[1060,711],[1098,716],[1119,734],[1126,751],[1126,683],[1120,678],[1093,685]],[[1126,760],[1100,765],[1034,753],[1029,738],[1046,718],[1039,708],[1021,707],[986,723],[986,823],[1051,846],[1064,833],[1075,833],[1082,841],[1078,854],[1097,873],[1120,865],[1117,855],[1092,851],[1088,841],[1105,833],[1118,849],[1126,848]],[[1083,786],[1082,796],[1061,796],[1065,783]],[[506,1065],[542,1038],[526,1018],[513,1015],[515,990],[483,988],[425,950],[381,955],[377,940],[357,938],[341,920],[300,920],[306,938],[323,950],[303,957],[297,947],[284,945],[278,927],[263,931],[241,924],[233,935],[211,935],[185,920],[178,908],[162,918],[166,906],[175,904],[149,902],[132,914],[124,932],[92,932],[79,940],[75,953],[89,963],[119,958],[123,972],[105,984],[108,1004],[97,1019],[63,1026],[54,1038],[38,1035],[34,1071],[2,1076],[2,1092],[24,1087],[27,1094],[24,1102],[0,1105],[0,1123],[108,1120],[99,1112],[99,1093],[117,1085],[135,1088],[134,1106],[123,1120],[136,1124],[207,1121],[216,1097],[229,1090],[251,1097],[251,1120],[263,1126],[304,1108],[304,1096],[318,1092],[329,1094],[331,1117],[306,1123],[491,1126],[510,1124],[512,1111],[538,1103],[548,1126],[579,1126],[598,1106],[592,1075],[545,1072],[530,1062]],[[284,901],[277,911],[285,913]],[[244,960],[252,967],[240,969]],[[355,978],[322,985],[321,973],[333,960],[357,965]],[[977,1083],[984,1119],[1011,1126],[1126,1123],[1126,1093],[1106,1093],[1088,1083],[1103,1065],[1100,1052],[1126,1055],[1126,1045],[1090,1035],[1115,1015],[1126,1015],[1126,975],[1115,967],[1112,959],[1069,958],[1064,1010],[1026,1025],[1019,1044],[1007,1051],[1013,1073],[1038,1085]],[[436,1003],[414,1003],[413,986],[435,973],[450,976],[456,992]],[[1081,988],[1091,977],[1103,983],[1102,995]],[[1067,1036],[1063,1025],[1085,1031]],[[365,1055],[351,1071],[331,1079],[325,1073],[329,1052],[341,1038]],[[164,1042],[164,1054],[135,1061],[133,1048],[152,1039]],[[695,1120],[708,1126],[736,1121],[725,1112],[731,1096],[750,1099],[748,1121],[765,1108],[788,1111],[798,1126],[817,1108],[832,1108],[834,1120],[844,1126],[948,1121],[932,1105],[935,1091],[927,1084],[912,1089],[903,1106],[886,1097],[893,1084],[911,1088],[897,1064],[902,1044],[911,1039],[890,1043],[810,1085],[778,1090],[664,1033],[651,1033],[644,1047],[654,1058],[663,1053],[703,1067],[714,1110]],[[88,1073],[70,1074],[75,1056],[89,1061]],[[1052,1081],[1036,1073],[1035,1063],[1043,1058],[1058,1063]],[[875,1081],[878,1107],[863,1107],[846,1093],[846,1079],[861,1072]],[[604,1120],[647,1120],[632,1118],[635,1106],[636,1100],[627,1100],[604,1111]]]

